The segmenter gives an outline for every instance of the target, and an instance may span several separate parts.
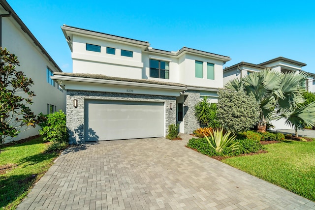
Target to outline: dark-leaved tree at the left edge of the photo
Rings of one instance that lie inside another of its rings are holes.
[[[0,48],[0,145],[21,131],[35,127],[36,116],[29,105],[35,95],[32,79],[15,69],[19,61],[6,48]]]

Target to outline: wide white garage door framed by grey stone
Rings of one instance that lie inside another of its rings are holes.
[[[164,136],[164,103],[85,101],[85,141]]]

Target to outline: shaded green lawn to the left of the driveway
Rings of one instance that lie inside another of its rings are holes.
[[[47,146],[39,137],[24,144],[1,148],[0,166],[14,167],[0,175],[0,209],[15,209],[59,153],[43,153]]]

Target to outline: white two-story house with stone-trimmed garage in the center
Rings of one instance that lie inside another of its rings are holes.
[[[183,47],[169,52],[150,43],[63,25],[73,73],[52,77],[67,90],[70,143],[163,137],[170,124],[191,133],[194,105],[217,101],[223,64],[230,60]]]

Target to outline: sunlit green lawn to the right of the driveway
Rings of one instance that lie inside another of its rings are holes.
[[[222,162],[315,201],[315,141],[266,145],[268,153]]]

